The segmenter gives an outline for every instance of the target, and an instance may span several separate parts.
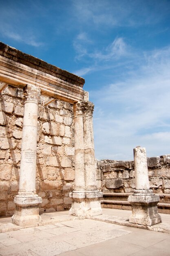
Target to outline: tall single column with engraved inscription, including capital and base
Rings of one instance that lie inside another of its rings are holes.
[[[42,202],[42,198],[38,197],[35,189],[40,89],[27,85],[26,92],[22,129],[20,184],[18,195],[14,199],[16,207],[12,216],[13,224],[20,226],[35,225],[40,221],[38,206]]]

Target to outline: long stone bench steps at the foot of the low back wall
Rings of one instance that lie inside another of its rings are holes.
[[[131,205],[127,201],[129,195],[132,195],[132,193],[103,193],[102,207],[131,210]],[[159,197],[158,212],[170,214],[170,194],[159,194]]]

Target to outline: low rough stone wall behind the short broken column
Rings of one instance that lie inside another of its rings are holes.
[[[155,193],[170,193],[170,155],[149,157],[147,160],[150,188]],[[135,189],[133,161],[97,161],[97,174],[103,192],[130,193]]]

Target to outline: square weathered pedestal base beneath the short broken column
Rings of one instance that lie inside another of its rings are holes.
[[[134,192],[128,197],[128,202],[132,205],[129,222],[147,226],[162,222],[157,208],[157,203],[160,201],[159,195],[152,193],[152,190],[141,191],[141,193],[139,190]]]

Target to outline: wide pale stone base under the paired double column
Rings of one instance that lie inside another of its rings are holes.
[[[75,216],[97,216],[102,214],[100,200],[103,194],[95,191],[73,191],[70,193],[73,198],[70,215]]]

